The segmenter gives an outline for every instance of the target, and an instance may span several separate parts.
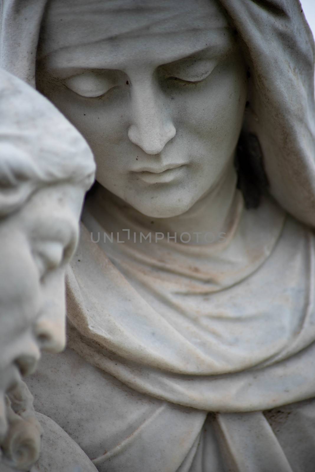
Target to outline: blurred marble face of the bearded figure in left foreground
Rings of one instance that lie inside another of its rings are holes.
[[[83,196],[76,185],[48,186],[0,222],[0,439],[5,392],[34,370],[41,349],[65,346],[65,270]]]

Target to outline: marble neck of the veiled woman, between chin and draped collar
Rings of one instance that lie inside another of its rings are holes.
[[[128,212],[129,219],[136,220],[148,231],[162,233],[165,239],[173,237],[174,241],[176,235],[176,241],[179,241],[182,235],[185,241],[191,237],[191,244],[205,244],[219,240],[230,226],[235,203],[236,179],[236,171],[231,165],[217,185],[190,210],[172,218],[152,218],[143,215],[132,207],[126,207],[121,199],[109,192],[106,198],[111,198],[118,206],[123,204],[124,212]],[[100,192],[103,193],[104,189],[100,189]]]

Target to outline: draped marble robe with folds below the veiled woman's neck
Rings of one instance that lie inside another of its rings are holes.
[[[104,212],[108,236],[141,228],[86,203],[68,348],[29,385],[97,470],[314,470],[314,234],[269,197],[235,199],[224,242],[178,254],[127,232],[93,242]]]

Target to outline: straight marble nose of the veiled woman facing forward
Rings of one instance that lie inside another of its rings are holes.
[[[158,85],[147,78],[131,85],[132,124],[128,137],[147,154],[160,153],[176,134],[170,119],[171,110]]]

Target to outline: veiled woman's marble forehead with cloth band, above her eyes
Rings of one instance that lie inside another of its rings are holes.
[[[38,59],[67,67],[124,68],[145,59],[163,64],[232,42],[215,0],[52,0]]]

